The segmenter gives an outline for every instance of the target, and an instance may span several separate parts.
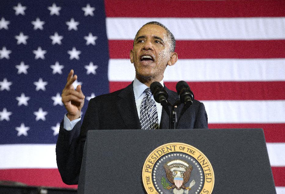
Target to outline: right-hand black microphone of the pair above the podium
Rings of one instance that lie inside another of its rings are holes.
[[[176,91],[181,103],[184,103],[188,107],[192,105],[194,94],[185,81],[180,81],[176,84]]]

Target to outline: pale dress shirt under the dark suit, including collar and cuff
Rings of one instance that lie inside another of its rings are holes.
[[[161,85],[163,85],[163,80],[161,80],[159,83],[161,83]],[[145,96],[144,90],[147,88],[148,88],[148,86],[141,83],[137,78],[135,78],[133,80],[133,93],[135,95],[135,101],[136,101],[136,106],[137,106],[137,115],[139,116],[139,118],[141,117],[141,102]],[[154,100],[153,95],[152,95],[152,99]],[[155,104],[156,104],[156,108],[157,108],[158,124],[160,124],[162,105],[156,101],[155,101]],[[76,123],[79,122],[80,120],[81,120],[81,116],[78,119],[70,121],[67,117],[67,114],[65,114],[64,120],[63,120],[63,128],[65,130],[70,131],[73,129],[73,127],[76,125]]]

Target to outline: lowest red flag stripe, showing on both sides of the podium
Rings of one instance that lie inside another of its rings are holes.
[[[275,185],[285,186],[285,167],[272,167]],[[77,189],[77,185],[65,185],[57,169],[6,169],[0,170],[0,180],[22,182],[30,186],[51,186]]]

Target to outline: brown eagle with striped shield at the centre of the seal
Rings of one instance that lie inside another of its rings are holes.
[[[191,175],[191,171],[193,169],[193,167],[191,165],[189,165],[188,167],[185,168],[185,172],[182,173],[182,171],[176,171],[176,170],[170,170],[170,167],[167,164],[163,165],[163,168],[165,169],[166,172],[166,177],[168,179],[168,181],[172,184],[171,186],[167,187],[167,189],[174,189],[176,188],[177,190],[182,189],[188,189],[190,190],[190,188],[186,187],[185,184],[189,181],[190,179],[190,175]],[[179,184],[177,184],[177,182],[174,181],[174,179],[183,179],[183,183],[180,186]],[[178,187],[177,187],[178,185]]]

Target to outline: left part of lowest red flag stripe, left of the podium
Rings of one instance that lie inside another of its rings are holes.
[[[62,182],[57,169],[5,169],[0,170],[0,180],[21,182],[29,186],[75,188]]]

